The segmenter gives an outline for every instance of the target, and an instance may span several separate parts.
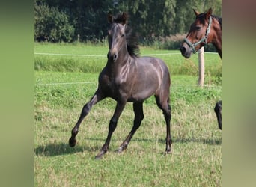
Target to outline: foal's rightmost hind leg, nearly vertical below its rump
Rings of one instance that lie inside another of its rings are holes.
[[[165,116],[166,123],[166,153],[171,153],[171,106],[169,105],[169,98],[162,100],[159,96],[156,96],[156,103],[158,107],[162,110],[162,113]]]

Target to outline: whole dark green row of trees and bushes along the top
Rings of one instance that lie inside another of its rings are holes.
[[[192,10],[222,16],[221,0],[34,0],[34,40],[49,42],[103,41],[107,13],[129,14],[139,40],[186,34],[195,19]]]

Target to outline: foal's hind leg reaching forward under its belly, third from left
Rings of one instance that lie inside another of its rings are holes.
[[[138,129],[138,127],[141,125],[141,121],[144,118],[143,114],[143,102],[134,102],[133,103],[133,111],[135,113],[135,118],[133,121],[133,126],[131,132],[129,132],[129,135],[125,139],[125,141],[121,144],[121,146],[118,148],[118,153],[121,153],[123,150],[127,149],[127,146],[129,144],[129,141],[132,139],[132,136]]]

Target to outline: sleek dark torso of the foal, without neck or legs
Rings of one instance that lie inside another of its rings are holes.
[[[100,87],[106,96],[115,99],[125,99],[128,102],[141,102],[158,94],[161,85],[162,72],[157,61],[147,61],[138,64],[136,70],[128,75],[120,73],[114,79],[108,73],[101,73]]]

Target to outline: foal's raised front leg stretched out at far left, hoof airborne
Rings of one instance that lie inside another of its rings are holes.
[[[76,125],[73,127],[71,131],[71,137],[69,140],[70,147],[74,147],[76,145],[76,135],[79,132],[79,126],[82,123],[82,120],[85,118],[85,116],[88,115],[89,111],[91,110],[91,107],[104,98],[105,96],[103,96],[103,94],[99,90],[97,90],[94,93],[94,96],[91,98],[91,100],[84,105],[79,120],[77,121]]]

